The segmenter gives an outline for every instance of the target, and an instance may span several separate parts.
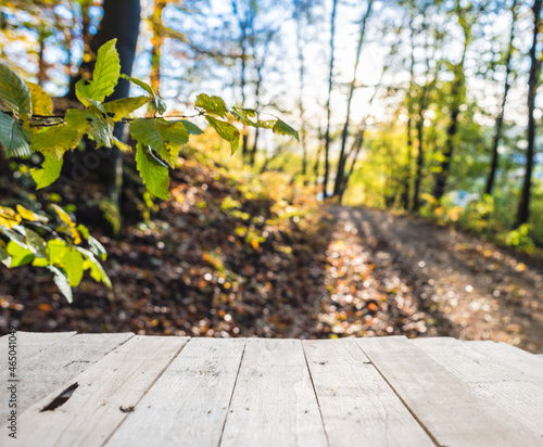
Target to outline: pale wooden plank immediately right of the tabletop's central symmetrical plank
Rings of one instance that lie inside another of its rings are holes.
[[[354,340],[303,347],[331,446],[434,446]]]

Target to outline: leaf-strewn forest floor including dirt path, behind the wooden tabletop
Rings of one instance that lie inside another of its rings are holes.
[[[116,240],[92,229],[112,290],[86,278],[68,304],[47,271],[2,266],[0,332],[449,335],[543,352],[541,259],[418,218],[323,206],[273,178],[195,161],[172,175],[172,200],[147,224]],[[16,203],[17,188],[0,192]],[[93,196],[59,193],[61,205]],[[38,194],[45,209],[52,197]],[[85,222],[96,212],[76,214]]]

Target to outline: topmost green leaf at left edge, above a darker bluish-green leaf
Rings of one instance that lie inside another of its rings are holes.
[[[2,63],[0,63],[0,103],[5,105],[17,119],[28,120],[31,117],[30,90],[15,72]]]

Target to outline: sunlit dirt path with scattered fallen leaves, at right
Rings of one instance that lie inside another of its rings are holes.
[[[541,260],[419,218],[370,208],[328,210],[337,231],[355,233],[354,243],[370,254],[374,276],[402,284],[421,316],[431,317],[428,334],[504,341],[543,353]]]

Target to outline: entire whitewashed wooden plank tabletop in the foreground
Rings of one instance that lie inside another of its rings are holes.
[[[503,343],[15,336],[0,446],[543,446],[543,358]]]

